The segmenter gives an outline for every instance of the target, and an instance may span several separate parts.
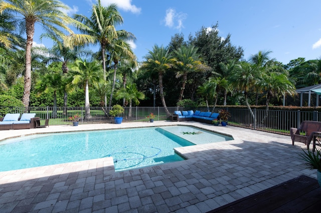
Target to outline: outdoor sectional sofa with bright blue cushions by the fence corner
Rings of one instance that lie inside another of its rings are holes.
[[[178,115],[178,121],[194,120],[209,124],[212,124],[212,120],[219,118],[219,113],[200,110],[174,111],[174,114]]]

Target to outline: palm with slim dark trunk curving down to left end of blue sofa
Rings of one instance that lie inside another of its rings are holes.
[[[175,61],[172,59],[172,55],[168,52],[167,48],[157,46],[156,44],[153,46],[152,51],[148,51],[145,59],[146,61],[143,62],[142,69],[158,73],[159,95],[167,114],[170,115],[171,113],[165,102],[163,75],[174,66]]]

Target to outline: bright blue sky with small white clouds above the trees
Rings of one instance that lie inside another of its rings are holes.
[[[90,16],[96,0],[61,0],[68,14]],[[132,44],[138,61],[154,44],[168,45],[175,33],[190,33],[218,22],[219,35],[231,34],[231,43],[244,49],[248,59],[259,50],[284,64],[297,57],[321,56],[320,0],[101,0],[117,3],[124,24],[117,29],[134,33]],[[37,30],[37,29],[36,29]],[[40,29],[41,30],[41,29]],[[39,32],[40,33],[40,32]],[[38,32],[34,41],[39,44]],[[50,42],[43,40],[46,46]],[[97,48],[92,46],[93,49]]]

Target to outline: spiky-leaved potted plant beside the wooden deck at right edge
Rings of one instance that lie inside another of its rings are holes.
[[[315,149],[316,153],[314,153],[314,151],[310,151],[309,149],[307,151],[304,151],[304,149],[302,150],[304,153],[299,153],[299,155],[303,160],[306,161],[305,165],[307,165],[309,169],[317,169],[317,182],[321,186],[321,149]]]

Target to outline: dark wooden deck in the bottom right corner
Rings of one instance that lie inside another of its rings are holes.
[[[301,175],[208,213],[213,212],[321,212],[321,188]]]

